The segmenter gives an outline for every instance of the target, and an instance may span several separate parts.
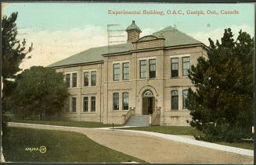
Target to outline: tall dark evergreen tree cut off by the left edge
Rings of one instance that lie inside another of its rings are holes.
[[[5,126],[7,119],[5,117],[5,111],[9,110],[10,100],[9,96],[13,93],[14,83],[9,79],[15,79],[16,72],[19,72],[20,63],[23,59],[31,58],[27,57],[27,54],[32,51],[31,47],[26,50],[26,40],[22,42],[16,38],[17,28],[16,19],[18,13],[13,12],[9,18],[7,16],[2,17],[2,130],[5,132]]]

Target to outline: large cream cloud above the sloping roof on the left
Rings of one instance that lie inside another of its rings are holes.
[[[27,46],[33,43],[32,58],[26,59],[20,68],[32,65],[50,65],[70,55],[85,51],[90,47],[107,44],[106,32],[100,26],[85,26],[84,29],[74,28],[66,31],[35,31],[33,29],[18,30],[18,38],[27,40]]]

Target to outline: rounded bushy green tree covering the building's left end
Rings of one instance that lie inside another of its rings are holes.
[[[53,68],[33,66],[17,75],[11,98],[14,113],[23,118],[35,115],[42,119],[61,112],[68,96],[62,73]]]

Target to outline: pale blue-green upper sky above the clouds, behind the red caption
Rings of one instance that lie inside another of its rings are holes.
[[[239,15],[218,16],[113,16],[108,15],[108,9],[117,10],[143,10],[157,9],[167,11],[168,9],[186,10],[238,10]],[[176,24],[179,30],[187,33],[207,30],[207,24],[215,29],[222,25],[254,26],[253,4],[167,4],[167,3],[13,3],[6,6],[4,12],[19,12],[17,25],[20,28],[31,28],[35,30],[68,30],[74,27],[84,27],[87,24],[102,26],[106,28],[108,23],[120,23],[128,26],[135,19],[140,28],[159,29],[160,27],[173,26]]]

